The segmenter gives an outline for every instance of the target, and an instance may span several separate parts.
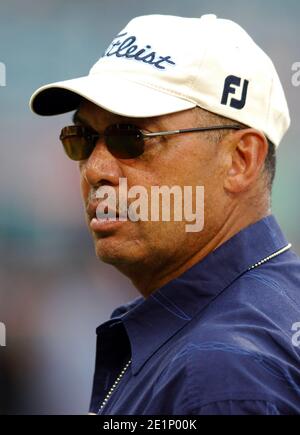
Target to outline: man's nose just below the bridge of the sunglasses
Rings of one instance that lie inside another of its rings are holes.
[[[82,163],[82,176],[93,187],[117,186],[122,170],[119,161],[108,151],[103,138],[99,138],[89,158]]]

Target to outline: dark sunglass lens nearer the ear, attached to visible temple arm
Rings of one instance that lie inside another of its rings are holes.
[[[105,131],[108,150],[118,159],[134,159],[144,152],[141,131],[130,124],[116,124]]]

